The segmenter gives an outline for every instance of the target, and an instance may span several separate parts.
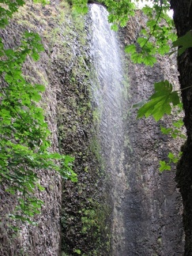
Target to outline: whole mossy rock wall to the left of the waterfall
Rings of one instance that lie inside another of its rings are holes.
[[[15,198],[1,188],[1,255],[108,254],[111,212],[105,205],[109,192],[101,191],[105,178],[91,106],[85,18],[70,7],[65,0],[46,6],[28,2],[1,32],[6,47],[17,46],[25,30],[40,34],[45,51],[39,62],[28,59],[24,75],[46,86],[41,106],[51,130],[51,150],[74,156],[78,175],[78,183],[71,183],[55,171],[40,170],[45,190],[36,196],[45,201],[42,213],[36,226],[21,224],[19,232],[9,228],[6,217]]]

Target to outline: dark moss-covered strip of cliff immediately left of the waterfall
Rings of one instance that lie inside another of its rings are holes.
[[[59,36],[55,38],[55,55],[59,53],[54,63],[55,76],[64,84],[57,96],[58,137],[61,152],[75,156],[73,165],[78,183],[67,180],[63,184],[61,247],[64,255],[107,254],[111,209],[107,195],[98,190],[105,177],[95,135],[98,113],[92,112],[91,104],[91,63],[85,40],[88,23],[71,12],[70,7],[67,9],[69,12],[65,13],[57,34],[64,36],[65,47]]]

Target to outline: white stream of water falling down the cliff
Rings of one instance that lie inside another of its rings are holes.
[[[112,180],[113,201],[111,255],[119,255],[124,244],[121,205],[126,190],[123,162],[123,69],[122,52],[117,33],[107,21],[107,10],[90,5],[92,19],[92,62],[95,77],[92,79],[95,105],[100,112],[100,145],[107,174]]]

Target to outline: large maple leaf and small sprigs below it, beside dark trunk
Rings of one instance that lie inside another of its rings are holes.
[[[145,115],[146,118],[149,115],[157,121],[162,119],[165,114],[175,115],[177,120],[172,122],[171,127],[160,126],[162,134],[169,134],[172,138],[180,137],[185,139],[183,134],[183,120],[179,118],[179,113],[183,111],[183,104],[180,102],[179,94],[177,91],[172,91],[172,85],[168,81],[160,81],[155,83],[155,93],[150,96],[148,102],[141,102],[135,104],[134,107],[140,107],[137,111],[137,119]],[[145,103],[145,104],[144,104]],[[175,113],[173,113],[174,108]],[[182,152],[179,152],[178,156],[175,156],[173,152],[168,153],[168,162],[160,160],[160,172],[170,171],[171,164],[178,163]]]

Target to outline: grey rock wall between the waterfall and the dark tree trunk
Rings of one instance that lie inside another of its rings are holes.
[[[123,40],[133,43],[145,26],[140,12],[123,31]],[[160,174],[159,160],[168,160],[168,152],[179,152],[183,141],[161,134],[160,126],[169,126],[170,118],[136,120],[133,104],[152,94],[156,81],[171,81],[178,88],[175,56],[157,57],[153,67],[127,61],[130,78],[129,113],[126,119],[125,168],[127,189],[124,211],[124,248],[114,255],[181,255],[183,254],[183,205],[175,183],[175,166]],[[174,119],[174,116],[172,117]]]

